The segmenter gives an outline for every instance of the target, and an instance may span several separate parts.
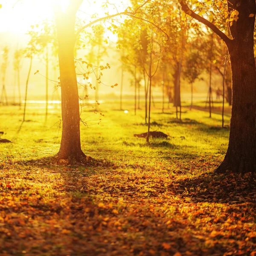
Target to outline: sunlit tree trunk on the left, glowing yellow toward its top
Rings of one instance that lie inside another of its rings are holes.
[[[62,112],[62,137],[58,157],[81,161],[85,155],[80,143],[79,94],[74,65],[76,11],[66,11],[56,17]]]

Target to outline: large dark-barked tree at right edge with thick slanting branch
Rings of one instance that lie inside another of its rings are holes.
[[[196,3],[197,1],[193,1]],[[256,171],[256,68],[253,52],[255,0],[229,0],[212,3],[215,12],[228,17],[232,39],[210,20],[192,11],[185,0],[179,0],[183,11],[208,26],[227,45],[232,69],[233,102],[227,153],[217,172]],[[207,6],[204,4],[204,7]],[[209,6],[207,6],[209,9]],[[212,10],[211,10],[212,12]]]

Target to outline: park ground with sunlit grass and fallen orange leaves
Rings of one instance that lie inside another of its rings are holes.
[[[133,136],[146,131],[143,110],[100,107],[99,125],[81,125],[96,159],[84,166],[54,157],[59,108],[47,121],[43,107],[29,108],[23,123],[18,106],[0,108],[12,141],[0,144],[0,256],[256,255],[256,177],[214,172],[229,134],[220,109],[209,119],[204,104],[183,108],[180,122],[159,103],[152,131],[169,138],[147,145]]]

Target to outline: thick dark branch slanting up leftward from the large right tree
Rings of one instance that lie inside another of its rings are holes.
[[[187,15],[191,16],[192,18],[198,20],[199,22],[203,23],[205,26],[207,26],[209,29],[211,29],[213,32],[215,32],[216,35],[218,35],[227,45],[230,45],[232,42],[232,39],[228,38],[226,34],[224,34],[220,29],[218,29],[214,24],[209,22],[209,20],[205,19],[204,17],[201,17],[200,15],[193,12],[189,6],[186,4],[186,0],[178,0],[181,6],[181,9],[183,12],[185,12]]]

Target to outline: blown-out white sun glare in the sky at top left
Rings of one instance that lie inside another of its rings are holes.
[[[69,0],[0,0],[0,32],[26,33],[30,26],[40,23],[41,20],[52,19],[52,3],[58,3],[64,10]],[[89,1],[84,0],[79,16],[86,21],[90,20],[92,14],[97,13],[99,17],[104,15],[106,10],[101,6],[104,0]],[[122,12],[128,6],[128,0],[111,0],[118,11]],[[109,5],[109,13],[116,13],[113,5]]]

